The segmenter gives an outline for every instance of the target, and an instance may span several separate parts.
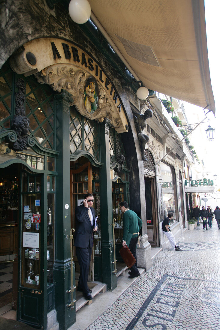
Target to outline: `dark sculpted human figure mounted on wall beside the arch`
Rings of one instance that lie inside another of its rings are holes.
[[[146,143],[149,140],[149,136],[146,134],[143,134],[143,130],[147,127],[146,119],[151,118],[153,116],[153,112],[150,109],[147,109],[143,115],[141,114],[134,114],[134,123],[137,130],[137,136],[139,139],[140,149],[141,149],[141,155],[142,160],[147,161],[147,158],[144,155],[144,150]]]

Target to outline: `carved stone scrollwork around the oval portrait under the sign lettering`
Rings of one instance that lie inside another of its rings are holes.
[[[98,104],[94,112],[89,113],[86,110],[84,102],[85,82],[91,76],[83,68],[72,64],[53,64],[35,74],[37,81],[47,83],[53,90],[61,92],[61,89],[68,91],[73,98],[70,105],[75,105],[79,113],[86,118],[103,122],[104,118],[110,119],[113,127],[122,126],[122,121],[118,115],[113,100],[108,97],[103,86],[97,81],[98,85]]]

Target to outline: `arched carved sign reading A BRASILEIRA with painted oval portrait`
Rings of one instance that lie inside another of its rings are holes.
[[[128,121],[113,84],[95,59],[71,42],[41,38],[24,44],[11,56],[18,74],[34,74],[38,82],[55,91],[67,90],[79,113],[102,122],[105,117],[118,133],[128,131]]]

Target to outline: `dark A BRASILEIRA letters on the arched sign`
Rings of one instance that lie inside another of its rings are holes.
[[[54,55],[54,59],[61,58],[61,55],[58,51],[58,49],[55,46],[55,43],[51,43],[52,51]],[[81,63],[81,65],[88,68],[91,72],[94,71],[94,74],[96,77],[98,77],[98,80],[102,83],[104,83],[104,86],[107,90],[109,90],[109,94],[112,96],[113,101],[115,104],[118,102],[118,95],[116,91],[114,90],[114,87],[110,84],[110,81],[107,77],[103,77],[103,72],[99,68],[97,64],[94,64],[94,61],[91,57],[89,57],[86,53],[82,53],[82,55],[79,54],[78,49],[74,46],[69,46],[68,44],[62,43],[64,56],[66,59],[73,59],[74,62]],[[81,58],[80,58],[81,56]],[[105,80],[103,80],[103,78]],[[121,112],[121,103],[117,106],[119,112]]]

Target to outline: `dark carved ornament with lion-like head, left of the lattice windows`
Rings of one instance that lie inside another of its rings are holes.
[[[17,134],[17,141],[13,143],[13,150],[26,150],[28,128],[30,120],[25,116],[24,102],[25,102],[25,85],[23,79],[18,79],[16,82],[18,92],[16,93],[16,107],[15,116],[12,119],[11,128]],[[9,137],[10,138],[10,137]],[[13,137],[12,137],[13,139]]]

